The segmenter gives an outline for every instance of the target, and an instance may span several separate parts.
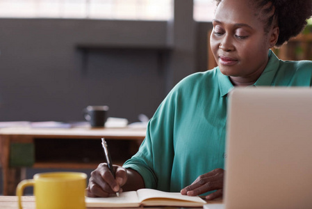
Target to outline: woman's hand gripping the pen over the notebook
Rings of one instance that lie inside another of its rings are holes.
[[[85,189],[87,196],[108,197],[115,196],[116,192],[122,192],[122,186],[126,183],[128,175],[123,167],[113,165],[115,177],[108,169],[106,163],[101,163],[91,172],[89,185]]]

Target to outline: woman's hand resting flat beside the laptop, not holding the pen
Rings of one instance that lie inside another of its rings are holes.
[[[223,195],[223,169],[214,169],[211,172],[199,176],[191,185],[181,190],[181,194],[188,196],[197,196],[205,192],[217,191],[208,194],[206,199],[212,200]]]

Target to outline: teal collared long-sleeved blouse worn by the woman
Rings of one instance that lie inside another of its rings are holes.
[[[312,61],[269,61],[253,86],[311,86]],[[198,176],[224,169],[227,94],[233,88],[219,68],[183,79],[149,121],[138,153],[124,163],[145,187],[179,192]]]

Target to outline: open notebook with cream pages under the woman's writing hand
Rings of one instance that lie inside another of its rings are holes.
[[[206,201],[199,196],[186,196],[179,192],[162,192],[155,189],[138,189],[122,192],[108,198],[85,198],[88,208],[133,208],[139,206],[202,207]]]

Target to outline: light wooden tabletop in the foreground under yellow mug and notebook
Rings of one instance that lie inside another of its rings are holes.
[[[222,199],[207,201],[208,204],[222,203]],[[35,209],[35,197],[34,196],[22,196],[22,206],[24,209]],[[17,196],[0,196],[0,208],[1,209],[11,209],[18,208]],[[155,207],[154,207],[155,208]],[[176,207],[158,207],[162,209],[173,209]],[[152,209],[149,207],[149,209]],[[189,208],[192,209],[192,208]]]

